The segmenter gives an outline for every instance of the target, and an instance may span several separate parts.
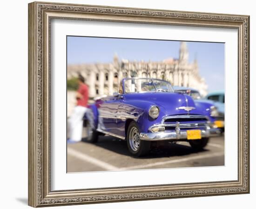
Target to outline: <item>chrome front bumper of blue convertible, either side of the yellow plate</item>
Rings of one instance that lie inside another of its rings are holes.
[[[201,137],[217,137],[221,133],[218,128],[209,128],[201,130]],[[162,140],[184,140],[187,139],[187,131],[159,131],[155,133],[140,133],[140,139],[145,141],[162,141]]]

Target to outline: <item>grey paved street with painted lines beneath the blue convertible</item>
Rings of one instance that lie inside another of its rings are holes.
[[[67,172],[181,168],[224,165],[224,136],[211,138],[204,150],[195,152],[189,143],[154,144],[145,157],[132,157],[126,141],[100,136],[96,144],[67,144]]]

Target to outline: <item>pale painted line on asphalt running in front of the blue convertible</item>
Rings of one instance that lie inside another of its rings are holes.
[[[201,158],[208,158],[208,157],[219,157],[223,156],[223,152],[216,152],[213,154],[206,154],[206,155],[200,155],[200,156],[192,156],[192,157],[184,157],[182,159],[175,159],[175,160],[168,160],[165,162],[157,162],[157,163],[148,163],[145,165],[137,165],[137,166],[130,166],[130,167],[123,167],[120,168],[120,170],[134,170],[134,169],[142,169],[142,168],[148,168],[148,167],[153,167],[153,166],[158,166],[158,165],[164,165],[164,164],[172,164],[172,163],[181,163],[181,162],[186,162],[186,161],[191,161],[191,160],[197,160]]]

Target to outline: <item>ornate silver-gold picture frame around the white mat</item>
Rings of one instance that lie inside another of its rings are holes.
[[[238,179],[99,189],[51,189],[51,20],[238,30]],[[28,204],[33,207],[249,193],[249,16],[33,2],[28,4]]]

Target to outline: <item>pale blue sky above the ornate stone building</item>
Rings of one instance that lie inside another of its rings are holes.
[[[118,58],[162,61],[179,58],[180,41],[67,37],[67,64],[109,63]],[[224,89],[224,43],[189,42],[189,63],[197,59],[208,92]]]

